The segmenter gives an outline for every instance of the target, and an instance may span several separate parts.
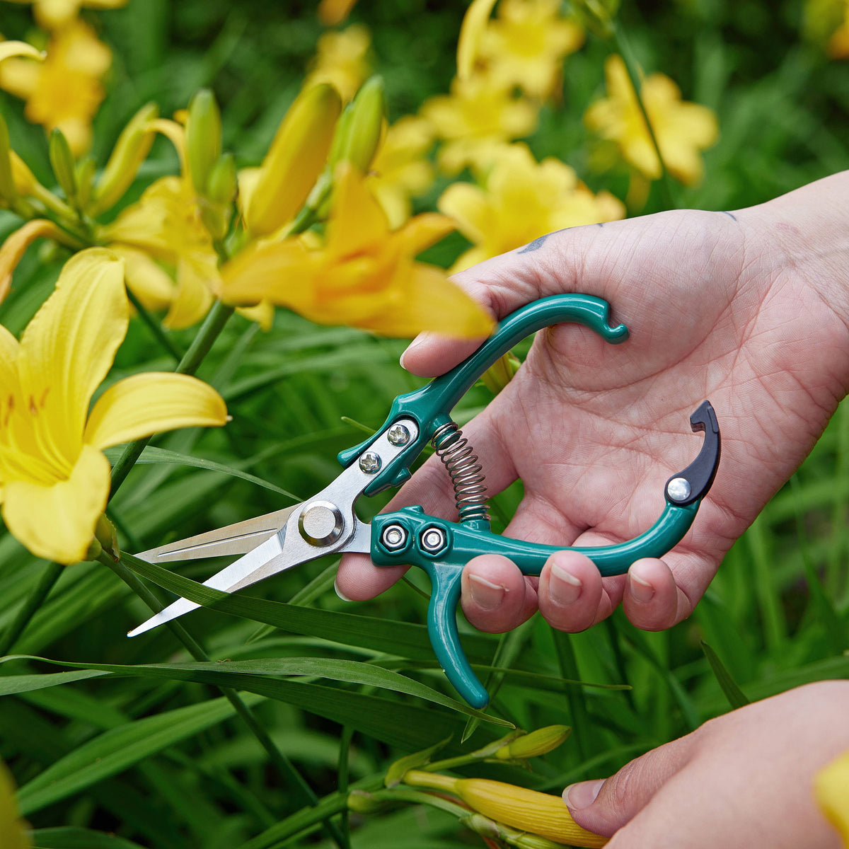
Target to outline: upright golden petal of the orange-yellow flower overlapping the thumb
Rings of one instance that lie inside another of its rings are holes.
[[[386,213],[356,168],[343,162],[334,177],[333,207],[327,224],[329,256],[352,256],[376,248],[389,235]]]

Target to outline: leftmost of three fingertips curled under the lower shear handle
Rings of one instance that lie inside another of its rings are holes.
[[[461,580],[461,601],[469,623],[486,633],[510,631],[537,609],[537,593],[530,582],[501,554],[469,560]]]

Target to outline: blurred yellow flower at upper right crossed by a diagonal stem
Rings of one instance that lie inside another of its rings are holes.
[[[661,163],[621,56],[608,57],[604,78],[608,96],[589,107],[584,123],[615,142],[629,165],[658,179]],[[683,102],[678,86],[663,74],[646,77],[640,94],[666,168],[682,183],[698,183],[704,171],[700,151],[719,135],[717,116],[706,106]]]

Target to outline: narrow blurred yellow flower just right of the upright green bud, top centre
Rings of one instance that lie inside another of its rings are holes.
[[[430,121],[405,115],[386,132],[386,138],[371,165],[371,189],[396,230],[412,211],[410,198],[424,194],[433,184],[434,169],[425,159],[434,142]]]

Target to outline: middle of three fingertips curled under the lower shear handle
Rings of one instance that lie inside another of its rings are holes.
[[[608,616],[610,599],[603,605],[603,593],[599,570],[585,554],[576,551],[552,554],[539,576],[540,613],[559,631],[585,631],[599,619],[600,611]]]

